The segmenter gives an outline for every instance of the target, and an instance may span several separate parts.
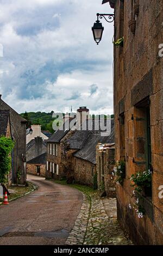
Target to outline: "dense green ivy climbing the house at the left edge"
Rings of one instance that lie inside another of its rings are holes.
[[[14,142],[11,138],[0,137],[0,182],[7,183],[7,175],[11,169],[11,151],[14,148]]]

